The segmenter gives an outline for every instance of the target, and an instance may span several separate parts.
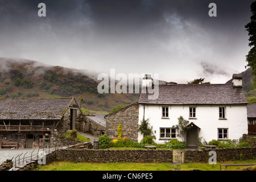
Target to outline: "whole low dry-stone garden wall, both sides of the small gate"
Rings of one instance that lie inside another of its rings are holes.
[[[239,148],[214,148],[214,149],[187,149],[184,151],[184,163],[208,163],[210,151],[216,151],[217,162],[229,160],[255,159],[256,147]],[[76,149],[68,148],[52,153],[51,159],[67,162],[91,162],[91,163],[172,163],[173,150],[150,149]]]

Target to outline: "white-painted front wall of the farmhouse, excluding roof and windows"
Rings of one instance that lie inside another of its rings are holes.
[[[164,143],[160,138],[160,127],[172,127],[177,125],[177,118],[183,116],[189,123],[193,122],[200,127],[199,137],[207,142],[218,139],[218,128],[228,128],[228,139],[239,139],[248,133],[246,105],[168,105],[169,119],[162,119],[162,106],[166,105],[139,105],[139,124],[144,117],[149,118],[150,126],[153,126],[156,143]],[[196,107],[196,119],[189,119],[189,107]],[[226,107],[226,119],[219,119],[219,107]],[[143,135],[139,133],[138,142]],[[179,139],[179,138],[177,138]],[[180,140],[180,139],[179,139]]]

